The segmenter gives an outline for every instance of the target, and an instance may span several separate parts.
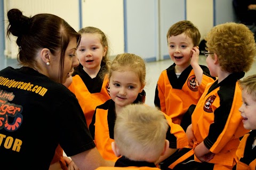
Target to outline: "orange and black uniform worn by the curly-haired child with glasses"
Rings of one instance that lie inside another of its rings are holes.
[[[242,104],[242,92],[237,80],[243,76],[244,72],[233,73],[220,83],[216,80],[206,86],[191,117],[197,141],[192,149],[184,149],[184,153],[182,153],[184,150],[181,150],[182,156],[178,160],[174,159],[170,168],[177,165],[174,169],[179,169],[182,165],[180,163],[191,159],[195,160],[194,163],[200,162],[194,156],[194,148],[201,142],[204,142],[205,147],[215,155],[208,163],[199,163],[198,166],[206,164],[207,169],[233,168],[237,162],[235,155],[240,142],[239,137],[249,132],[244,129],[242,117],[238,111]]]

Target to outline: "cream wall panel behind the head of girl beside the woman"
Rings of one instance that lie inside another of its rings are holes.
[[[82,27],[101,29],[108,37],[110,55],[124,52],[123,6],[121,0],[82,1]]]

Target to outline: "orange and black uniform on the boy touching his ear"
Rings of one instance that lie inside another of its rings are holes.
[[[196,105],[203,94],[206,84],[214,81],[206,66],[200,86],[196,85],[196,77],[191,66],[182,71],[179,78],[175,74],[175,63],[162,71],[155,91],[155,106],[172,118],[175,124],[181,124],[182,117],[191,105]],[[191,122],[191,120],[190,120]],[[185,128],[186,131],[186,128]]]

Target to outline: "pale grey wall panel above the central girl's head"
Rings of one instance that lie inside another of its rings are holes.
[[[157,52],[157,0],[124,1],[125,52],[155,61]]]

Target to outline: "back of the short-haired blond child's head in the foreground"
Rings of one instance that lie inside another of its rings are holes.
[[[154,163],[169,147],[167,121],[157,108],[130,104],[117,115],[112,148],[116,156]]]

